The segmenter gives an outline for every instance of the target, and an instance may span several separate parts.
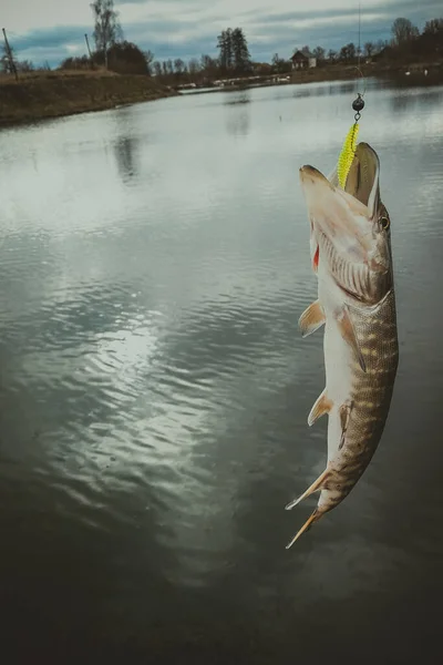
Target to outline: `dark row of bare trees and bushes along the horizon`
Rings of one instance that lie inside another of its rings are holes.
[[[227,28],[217,38],[218,55],[203,54],[185,62],[182,58],[154,60],[152,51],[142,50],[137,44],[126,41],[114,9],[113,0],[95,0],[91,4],[94,16],[94,50],[82,57],[66,58],[60,69],[87,70],[106,68],[121,74],[154,75],[168,85],[186,83],[205,84],[220,78],[245,76],[254,74],[285,73],[291,70],[290,58],[280,58],[275,53],[271,62],[253,62],[248,42],[241,28]],[[340,50],[329,50],[318,45],[315,49],[300,49],[307,55],[317,59],[318,66],[331,64],[354,64],[364,61],[441,61],[443,59],[443,18],[427,21],[422,32],[409,19],[395,19],[391,27],[392,39],[365,42],[359,52],[353,42]],[[86,37],[86,35],[85,35]],[[86,37],[87,42],[87,37]],[[85,43],[86,47],[86,43]],[[89,42],[87,42],[89,49]],[[296,52],[298,49],[293,49]],[[289,54],[288,54],[289,55]],[[30,61],[20,61],[13,48],[10,53],[0,52],[0,66],[3,72],[32,71]],[[49,69],[47,64],[45,68]]]

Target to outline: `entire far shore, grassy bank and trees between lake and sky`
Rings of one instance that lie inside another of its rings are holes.
[[[295,44],[292,53],[274,53],[270,62],[253,60],[241,28],[226,28],[214,38],[217,55],[204,53],[185,61],[155,59],[151,50],[127,41],[113,0],[94,0],[91,10],[92,34],[79,35],[84,54],[66,58],[56,68],[20,59],[13,40],[6,39],[0,48],[0,123],[154,100],[186,88],[350,79],[358,76],[357,66],[365,76],[400,70],[443,80],[443,18],[427,21],[422,31],[409,19],[398,18],[388,41],[350,42],[337,51]],[[81,83],[86,80],[87,85]]]

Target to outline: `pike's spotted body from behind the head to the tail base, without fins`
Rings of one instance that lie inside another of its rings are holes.
[[[340,331],[333,329],[334,317],[327,315],[326,392],[333,407],[328,423],[330,475],[322,485],[319,513],[338,505],[371,461],[387,422],[399,362],[393,288],[373,307],[362,308],[349,301],[347,305],[365,371],[352,350],[344,346]],[[339,349],[340,345],[343,348]],[[338,366],[338,358],[344,358],[344,366]],[[337,390],[339,382],[348,387],[346,393],[342,389]]]

